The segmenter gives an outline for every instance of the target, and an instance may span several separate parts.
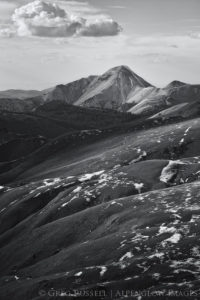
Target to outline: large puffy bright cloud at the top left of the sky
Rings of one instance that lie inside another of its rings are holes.
[[[121,27],[108,16],[85,18],[67,12],[55,3],[36,0],[15,9],[12,15],[13,28],[0,31],[2,36],[114,36]]]

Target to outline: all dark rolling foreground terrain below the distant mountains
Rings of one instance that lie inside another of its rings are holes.
[[[174,111],[1,111],[0,299],[200,299],[200,117]]]

